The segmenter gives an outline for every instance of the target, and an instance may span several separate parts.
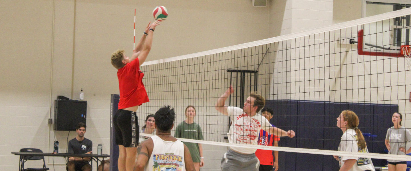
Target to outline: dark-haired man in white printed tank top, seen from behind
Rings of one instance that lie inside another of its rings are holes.
[[[154,119],[156,135],[143,141],[137,148],[134,171],[195,171],[187,146],[171,136],[174,108],[160,108],[154,114]]]

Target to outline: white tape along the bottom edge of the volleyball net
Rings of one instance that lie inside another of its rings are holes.
[[[144,133],[140,133],[140,135],[145,136],[145,137],[153,136],[151,134],[144,134]],[[258,145],[248,145],[248,144],[232,144],[232,143],[225,143],[225,142],[194,140],[194,139],[185,139],[185,138],[177,138],[177,139],[180,141],[184,141],[184,142],[209,144],[209,145],[215,145],[215,146],[243,147],[243,148],[256,148],[256,149],[261,149],[261,150],[285,151],[285,152],[293,152],[293,153],[309,153],[309,154],[320,154],[320,155],[338,155],[338,156],[363,157],[363,158],[372,158],[372,159],[411,161],[411,156],[409,155],[389,155],[389,154],[378,154],[378,153],[358,153],[358,152],[319,150],[319,149],[308,149],[308,148],[258,146]]]

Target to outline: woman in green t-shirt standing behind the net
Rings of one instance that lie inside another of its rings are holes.
[[[203,140],[203,133],[199,124],[194,123],[194,117],[196,116],[196,108],[189,105],[185,108],[185,121],[182,121],[175,128],[174,137]],[[183,142],[190,151],[193,159],[194,167],[196,171],[200,170],[200,167],[204,166],[203,146],[198,143]]]

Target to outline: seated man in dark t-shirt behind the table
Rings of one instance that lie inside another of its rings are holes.
[[[91,154],[93,143],[90,139],[84,138],[85,124],[79,123],[76,127],[76,138],[69,141],[67,153],[69,154]],[[90,157],[69,157],[67,162],[67,171],[91,171],[91,165],[88,164]]]

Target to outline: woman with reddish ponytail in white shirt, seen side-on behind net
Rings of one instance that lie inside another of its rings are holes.
[[[344,132],[339,143],[339,151],[368,153],[363,133],[358,129],[358,116],[351,110],[344,110],[337,118],[337,127]],[[375,171],[370,158],[337,156],[339,171]]]

